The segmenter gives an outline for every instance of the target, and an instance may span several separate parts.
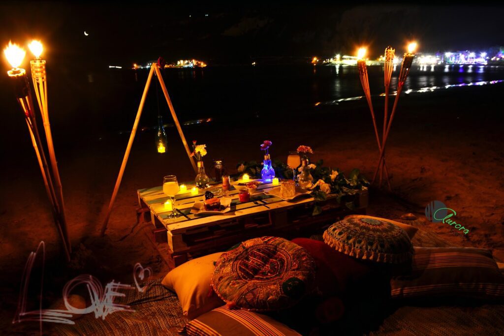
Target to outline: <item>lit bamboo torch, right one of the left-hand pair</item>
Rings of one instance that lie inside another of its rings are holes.
[[[67,216],[65,214],[65,200],[63,198],[63,188],[61,186],[61,178],[59,175],[58,163],[56,160],[56,153],[54,152],[54,144],[52,141],[51,124],[49,122],[49,110],[47,108],[47,74],[45,70],[45,60],[40,59],[42,53],[42,44],[39,41],[32,41],[28,45],[36,59],[30,61],[31,75],[33,81],[33,88],[37,96],[37,102],[40,107],[40,114],[44,123],[45,139],[47,141],[47,149],[49,150],[49,159],[52,168],[52,177],[55,183],[55,195],[59,208],[59,223],[61,230],[65,236],[65,241],[68,246],[69,252],[72,252],[72,243],[70,241]]]

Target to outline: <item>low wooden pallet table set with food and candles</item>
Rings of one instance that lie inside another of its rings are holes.
[[[191,187],[192,185],[187,184],[188,190]],[[328,197],[322,204],[323,213],[312,216],[313,197],[306,195],[293,201],[285,201],[264,193],[275,187],[279,186],[273,186],[271,183],[261,184],[247,203],[239,201],[238,190],[233,188],[229,191],[232,198],[231,211],[208,217],[198,217],[191,213],[195,201],[203,200],[204,191],[199,191],[198,195],[191,195],[191,192],[179,193],[175,196],[175,208],[187,218],[168,218],[171,211],[165,210],[164,203],[168,196],[163,193],[162,186],[140,189],[140,208],[137,212],[147,222],[150,213],[150,223],[154,226],[153,240],[168,243],[171,257],[177,266],[185,262],[189,255],[195,256],[212,250],[222,251],[253,237],[272,235],[293,238],[301,232],[315,233],[346,215],[365,213],[367,207],[367,192],[360,194],[354,211],[338,204],[336,197]],[[258,199],[266,204],[261,204]]]

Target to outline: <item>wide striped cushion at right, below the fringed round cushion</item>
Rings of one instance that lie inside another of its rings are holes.
[[[504,299],[504,277],[488,249],[414,247],[412,271],[392,279],[393,298]]]

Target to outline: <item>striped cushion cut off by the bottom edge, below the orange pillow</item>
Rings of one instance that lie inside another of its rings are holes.
[[[290,336],[299,335],[269,316],[244,309],[216,308],[187,324],[187,336]]]

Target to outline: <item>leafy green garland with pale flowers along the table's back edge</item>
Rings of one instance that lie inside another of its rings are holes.
[[[359,191],[369,186],[369,181],[357,168],[353,169],[347,178],[338,168],[332,170],[330,167],[324,167],[323,164],[324,160],[319,160],[314,165],[310,165],[310,174],[313,176],[313,182],[316,182],[311,191],[311,195],[315,199],[312,215],[322,213],[320,202],[325,201],[328,194],[336,195],[338,203],[344,203],[347,208],[355,209],[355,199],[359,196]],[[276,177],[292,179],[292,169],[282,161],[275,160],[272,166],[275,169]],[[236,165],[236,168],[240,174],[246,173],[251,178],[261,178],[263,166],[257,161],[241,161]],[[324,186],[324,184],[327,185]]]

